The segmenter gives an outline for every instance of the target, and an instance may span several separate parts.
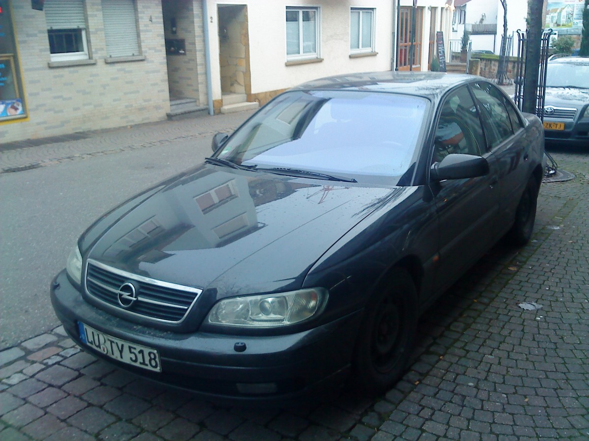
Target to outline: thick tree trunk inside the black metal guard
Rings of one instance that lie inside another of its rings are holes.
[[[542,0],[528,0],[528,38],[525,51],[524,96],[522,111],[536,113],[538,94],[538,67],[542,40]]]

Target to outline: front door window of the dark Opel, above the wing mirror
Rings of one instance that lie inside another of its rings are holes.
[[[477,108],[466,86],[452,92],[442,104],[434,138],[434,161],[450,153],[481,155],[485,137]]]

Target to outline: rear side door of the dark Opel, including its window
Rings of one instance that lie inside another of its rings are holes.
[[[486,81],[471,83],[472,94],[482,116],[487,148],[497,161],[499,178],[499,217],[496,235],[499,239],[511,227],[515,210],[530,174],[528,148],[531,143],[511,100],[496,86]]]

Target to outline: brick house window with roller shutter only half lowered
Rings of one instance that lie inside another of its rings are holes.
[[[45,0],[51,61],[88,59],[83,0]]]

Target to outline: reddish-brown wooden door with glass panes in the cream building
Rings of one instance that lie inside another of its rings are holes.
[[[411,6],[399,8],[399,71],[421,71],[423,8],[415,8],[415,43],[413,44],[413,62],[411,62],[411,36],[412,36],[412,9]]]

